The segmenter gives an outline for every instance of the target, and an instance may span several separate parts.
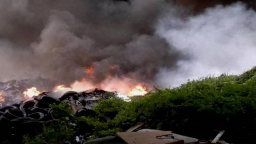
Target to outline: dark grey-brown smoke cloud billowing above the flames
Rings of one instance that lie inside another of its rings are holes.
[[[179,56],[154,24],[164,0],[0,0],[0,81],[40,76],[70,84],[94,67],[154,83]],[[114,66],[115,70],[109,69]]]

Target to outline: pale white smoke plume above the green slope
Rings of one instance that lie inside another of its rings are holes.
[[[239,74],[256,63],[256,12],[245,4],[218,5],[185,20],[165,14],[156,33],[186,55],[178,69],[158,73],[161,86],[222,73]]]

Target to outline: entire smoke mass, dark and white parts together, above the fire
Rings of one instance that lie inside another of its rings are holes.
[[[169,87],[256,60],[256,14],[242,3],[193,16],[166,0],[0,0],[0,19],[0,81]]]

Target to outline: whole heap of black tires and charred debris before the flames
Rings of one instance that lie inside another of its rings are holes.
[[[43,124],[48,125],[63,117],[64,109],[51,107],[51,104],[68,103],[75,116],[90,116],[95,114],[92,107],[97,105],[99,99],[112,96],[115,96],[114,92],[94,89],[83,92],[68,91],[56,99],[43,92],[26,101],[1,107],[0,126],[4,133],[0,139],[8,137],[19,141],[24,134],[33,134],[41,130]]]

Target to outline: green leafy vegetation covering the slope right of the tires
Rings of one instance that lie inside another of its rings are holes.
[[[95,117],[74,118],[78,127],[68,128],[72,133],[79,131],[89,139],[114,135],[138,122],[147,122],[152,129],[172,130],[176,133],[213,139],[216,131],[225,129],[222,139],[233,143],[251,143],[256,137],[256,67],[237,75],[202,77],[173,89],[157,90],[142,98],[125,102],[118,98],[104,99],[94,107]],[[52,108],[67,110],[67,104],[53,105]],[[61,115],[61,116],[63,116]],[[45,142],[53,127],[31,138],[24,137],[25,143]],[[65,128],[54,128],[64,136]],[[67,130],[68,128],[68,130]],[[59,140],[57,134],[52,135]],[[64,140],[67,140],[64,139]]]

